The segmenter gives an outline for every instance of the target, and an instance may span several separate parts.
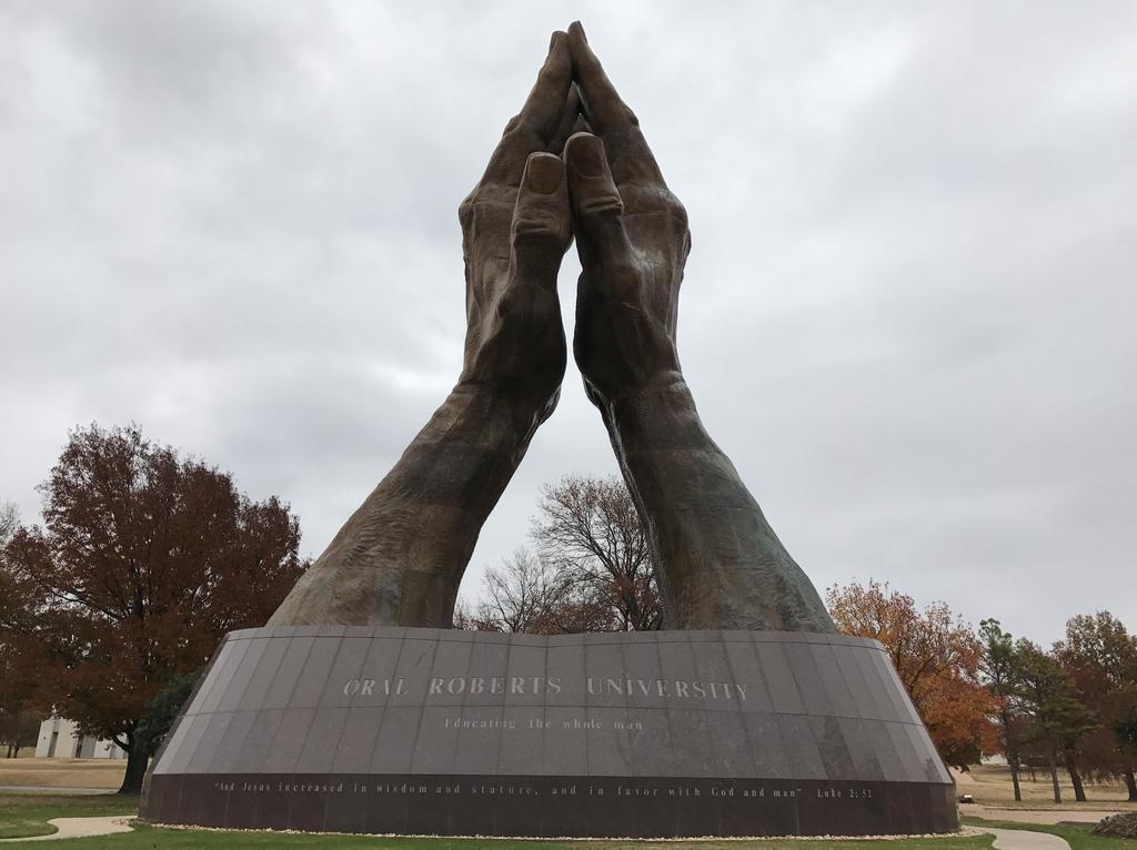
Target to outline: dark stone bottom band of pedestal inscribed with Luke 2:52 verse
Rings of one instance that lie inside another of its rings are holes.
[[[960,828],[943,783],[597,776],[176,774],[153,823],[539,838],[902,835]]]

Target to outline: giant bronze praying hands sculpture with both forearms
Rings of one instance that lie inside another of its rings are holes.
[[[462,376],[269,625],[451,624],[482,524],[556,407],[575,234],[573,352],[652,544],[664,626],[832,632],[696,413],[675,345],[687,216],[579,23],[553,34],[459,217]]]

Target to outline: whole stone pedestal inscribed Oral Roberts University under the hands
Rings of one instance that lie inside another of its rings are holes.
[[[874,641],[297,626],[225,638],[148,777],[168,824],[524,836],[949,832]]]

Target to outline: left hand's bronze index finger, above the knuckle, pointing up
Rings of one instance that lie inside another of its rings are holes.
[[[572,88],[572,55],[568,36],[553,33],[549,55],[545,58],[525,105],[506,125],[497,149],[490,157],[483,183],[520,185],[530,153],[546,150],[557,134],[568,92]]]

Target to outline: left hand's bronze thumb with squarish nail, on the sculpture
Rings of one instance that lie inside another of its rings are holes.
[[[572,242],[568,182],[554,153],[529,156],[511,228],[514,280],[556,289],[561,258]]]

